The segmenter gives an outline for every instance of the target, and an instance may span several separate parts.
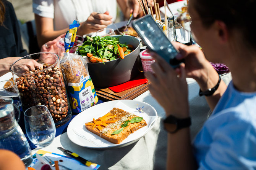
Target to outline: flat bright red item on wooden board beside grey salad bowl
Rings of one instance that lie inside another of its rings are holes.
[[[119,84],[117,86],[109,87],[110,90],[113,92],[119,93],[128,89],[131,89],[133,87],[139,86],[141,84],[147,83],[148,80],[144,77],[144,74],[139,74],[136,78],[127,81],[123,84]]]

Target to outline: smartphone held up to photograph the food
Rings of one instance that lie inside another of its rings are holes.
[[[163,57],[173,68],[183,60],[177,60],[178,50],[172,45],[165,33],[157,25],[151,15],[146,15],[133,21],[133,28],[139,34],[147,47]]]

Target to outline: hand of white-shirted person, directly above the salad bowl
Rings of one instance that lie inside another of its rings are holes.
[[[112,18],[113,17],[109,15],[109,11],[106,11],[103,14],[93,12],[88,19],[78,27],[78,35],[84,35],[104,29],[107,25],[112,23]]]

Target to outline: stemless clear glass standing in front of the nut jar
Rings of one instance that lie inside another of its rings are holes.
[[[37,147],[52,143],[56,128],[50,111],[44,105],[28,108],[24,113],[25,128],[29,140]]]

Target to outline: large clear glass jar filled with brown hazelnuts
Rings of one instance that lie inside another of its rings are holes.
[[[39,52],[25,56],[11,65],[23,111],[45,105],[55,126],[70,120],[72,112],[57,54]]]

